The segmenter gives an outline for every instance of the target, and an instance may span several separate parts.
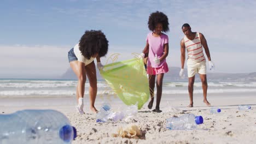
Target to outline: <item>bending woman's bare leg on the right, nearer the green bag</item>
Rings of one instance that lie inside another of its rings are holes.
[[[92,112],[98,112],[96,110],[94,103],[97,95],[97,76],[96,76],[96,68],[94,62],[85,66],[86,75],[89,79],[90,87],[89,87],[89,95],[90,95],[90,109]]]

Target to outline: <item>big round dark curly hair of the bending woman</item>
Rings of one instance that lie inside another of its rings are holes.
[[[100,30],[85,31],[79,41],[79,50],[87,59],[90,59],[96,53],[99,57],[103,57],[108,52],[108,40]]]

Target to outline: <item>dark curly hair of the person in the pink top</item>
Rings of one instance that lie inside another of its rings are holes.
[[[155,26],[158,23],[162,23],[162,31],[163,32],[168,32],[169,31],[169,22],[168,22],[168,17],[159,11],[156,11],[155,13],[150,14],[148,18],[148,28],[150,31],[154,31]]]

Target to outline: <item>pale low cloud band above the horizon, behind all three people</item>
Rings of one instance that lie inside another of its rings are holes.
[[[0,45],[0,75],[2,78],[58,78],[69,68],[68,46],[26,46]],[[117,56],[117,61],[134,58],[132,53],[141,53],[143,47],[110,46],[106,57],[101,58],[102,64],[111,63],[107,59]],[[115,53],[119,54],[116,55]],[[167,57],[169,67],[181,67],[180,51],[170,49]],[[256,53],[211,52],[212,61],[217,72],[250,73],[256,71],[253,67]],[[206,56],[206,55],[205,55]],[[208,62],[207,62],[208,67]]]

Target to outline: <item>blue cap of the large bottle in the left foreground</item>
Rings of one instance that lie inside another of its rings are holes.
[[[73,137],[72,137],[73,134]],[[77,130],[70,125],[64,125],[59,131],[60,138],[65,142],[70,142],[77,137]]]

